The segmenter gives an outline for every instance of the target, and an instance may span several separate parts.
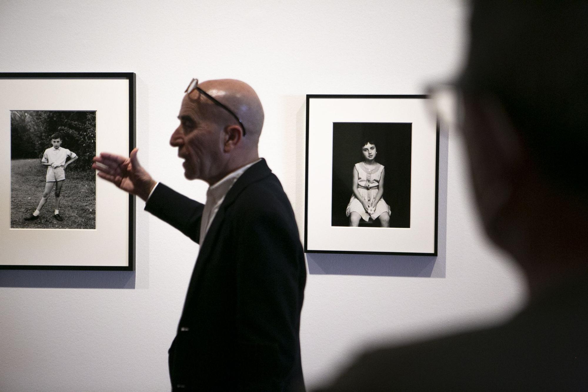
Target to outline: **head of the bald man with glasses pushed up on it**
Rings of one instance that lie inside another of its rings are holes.
[[[258,95],[245,82],[219,79],[202,82],[202,94],[189,91],[182,99],[180,125],[169,143],[185,160],[186,178],[215,184],[230,172],[259,159],[258,142],[263,127],[263,108]]]

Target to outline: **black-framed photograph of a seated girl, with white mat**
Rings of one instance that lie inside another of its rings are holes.
[[[438,142],[425,95],[307,95],[305,251],[436,255]]]

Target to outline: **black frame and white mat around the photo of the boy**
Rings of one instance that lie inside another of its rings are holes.
[[[0,72],[0,89],[5,95],[0,98],[0,132],[8,139],[9,111],[88,110],[96,112],[96,153],[129,154],[135,148],[133,72]],[[2,155],[7,155],[4,166],[8,168],[2,177],[9,178],[10,143],[6,148],[8,154]],[[135,197],[106,181],[96,181],[95,186],[93,230],[11,228],[11,185],[0,187],[0,247],[7,250],[0,258],[0,270],[135,270]],[[37,196],[32,195],[31,211]],[[48,244],[59,252],[46,256]]]

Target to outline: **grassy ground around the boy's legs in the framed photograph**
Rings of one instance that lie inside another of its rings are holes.
[[[73,165],[77,164],[75,162]],[[46,167],[38,159],[11,161],[10,227],[11,228],[96,228],[96,179],[93,171],[67,170],[59,215],[64,221],[53,217],[55,212],[55,187],[35,221],[25,221],[31,215],[45,189]]]

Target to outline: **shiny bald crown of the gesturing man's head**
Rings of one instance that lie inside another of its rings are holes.
[[[257,144],[263,127],[264,115],[261,101],[250,85],[236,79],[215,79],[199,83],[198,87],[235,113],[245,126],[248,144],[250,142]],[[193,90],[189,94],[189,98],[199,100],[201,105],[207,105],[208,110],[203,113],[215,116],[219,122],[237,123],[235,118],[225,109],[200,94],[199,91]]]

